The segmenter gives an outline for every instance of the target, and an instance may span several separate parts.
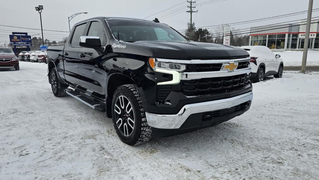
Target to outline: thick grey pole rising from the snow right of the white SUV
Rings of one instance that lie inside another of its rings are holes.
[[[313,3],[314,3],[313,0],[309,0],[308,19],[307,19],[307,27],[306,27],[305,46],[303,48],[301,73],[305,73],[306,72],[307,56],[308,56],[308,44],[309,44],[309,34],[310,34],[312,5],[313,5]]]

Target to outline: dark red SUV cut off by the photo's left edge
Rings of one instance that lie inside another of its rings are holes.
[[[0,68],[15,68],[19,70],[19,59],[11,48],[0,48]]]

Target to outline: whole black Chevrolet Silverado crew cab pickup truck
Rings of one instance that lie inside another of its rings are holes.
[[[138,145],[246,112],[249,60],[241,48],[189,41],[157,19],[96,17],[48,48],[48,79],[56,97],[106,112],[120,139]]]

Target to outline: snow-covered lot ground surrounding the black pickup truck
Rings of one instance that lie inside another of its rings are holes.
[[[104,113],[54,97],[46,69],[0,71],[1,180],[319,177],[319,74],[255,83],[242,116],[131,147]]]

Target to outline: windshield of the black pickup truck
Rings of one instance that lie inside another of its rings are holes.
[[[107,19],[112,34],[119,41],[188,41],[171,27],[146,20]]]

